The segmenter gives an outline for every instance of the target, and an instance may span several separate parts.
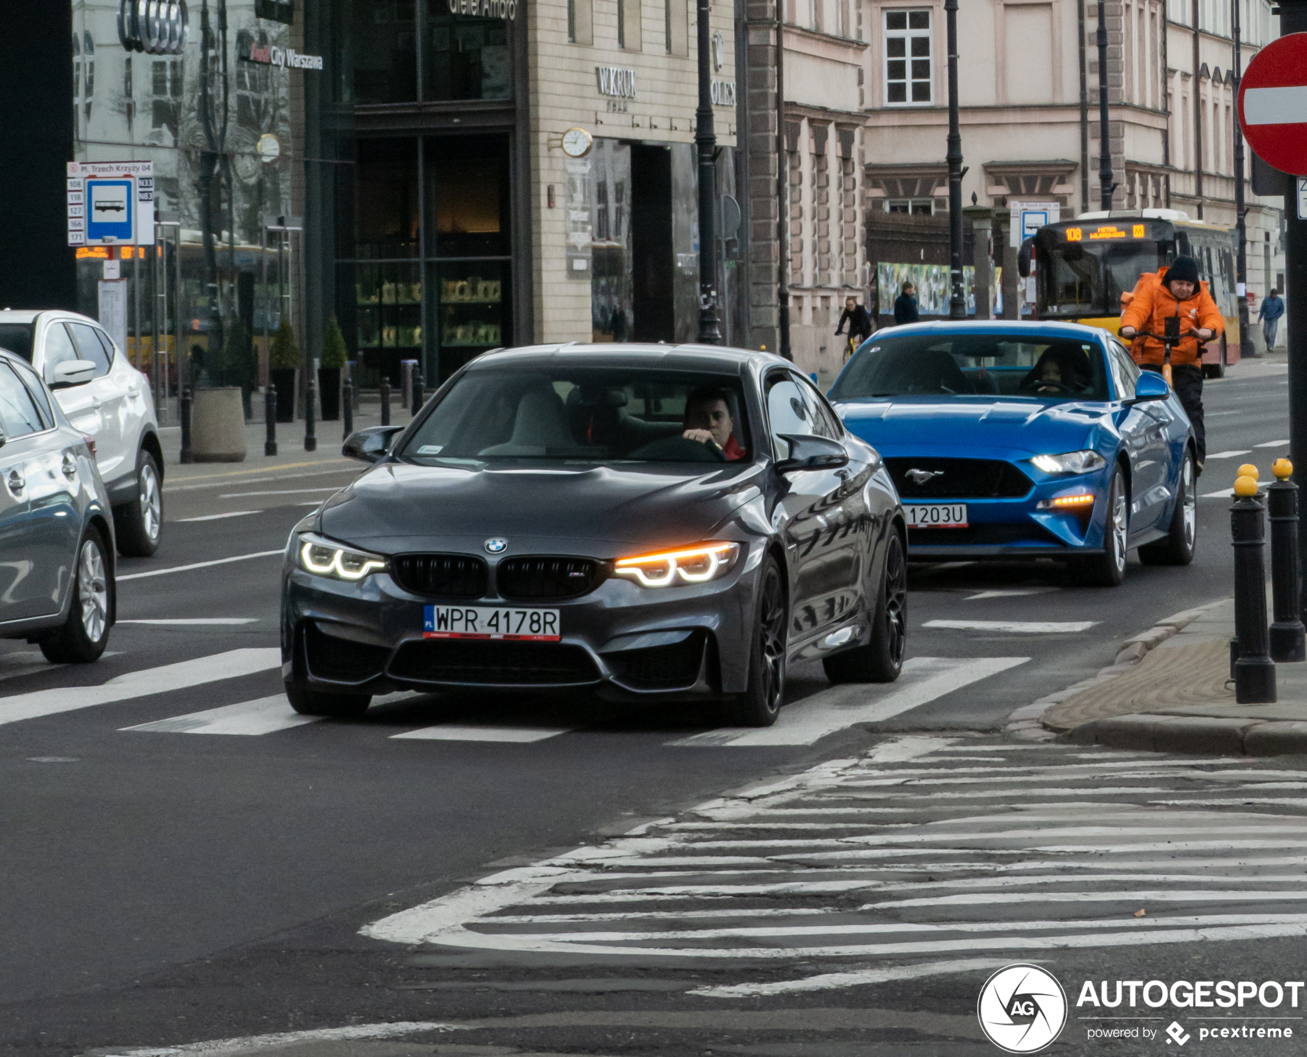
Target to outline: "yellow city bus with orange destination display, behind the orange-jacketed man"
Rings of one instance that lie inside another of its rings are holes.
[[[1239,308],[1234,282],[1235,233],[1189,220],[1176,209],[1081,213],[1035,234],[1035,317],[1120,327],[1121,294],[1144,272],[1187,255],[1199,263],[1226,332],[1202,350],[1202,372],[1221,378],[1239,361]]]

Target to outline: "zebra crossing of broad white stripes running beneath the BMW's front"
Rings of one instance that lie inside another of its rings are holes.
[[[50,670],[37,660],[24,660],[25,653],[8,655],[9,670],[33,674]],[[895,683],[847,685],[821,690],[802,700],[787,706],[779,720],[770,728],[719,728],[670,737],[668,747],[779,747],[814,745],[827,734],[853,726],[891,719],[912,708],[928,704],[945,694],[961,690],[980,679],[1025,664],[1027,657],[912,657],[903,666]],[[157,668],[128,672],[91,686],[47,687],[29,692],[0,695],[0,726],[54,716],[63,712],[91,709],[95,706],[146,702],[157,695],[186,699],[187,691],[208,687],[208,696],[226,696],[229,704],[186,711],[180,715],[131,723],[112,729],[129,734],[208,734],[230,737],[264,737],[282,734],[311,724],[322,723],[320,716],[297,713],[280,691],[281,653],[276,648],[242,648],[196,657]],[[0,678],[7,673],[0,672]],[[265,692],[256,698],[240,699],[222,683],[240,677],[259,677]],[[375,698],[374,706],[391,706],[418,699],[422,695],[405,691]],[[434,699],[431,699],[434,700]],[[152,706],[157,707],[157,704]],[[157,712],[156,712],[157,715]],[[354,726],[375,726],[387,730],[391,720],[384,712],[369,713],[374,719],[353,721]],[[580,715],[580,711],[578,711]],[[333,721],[339,723],[339,721]],[[396,742],[499,742],[531,745],[561,736],[595,729],[586,720],[575,725],[559,725],[531,717],[529,704],[511,715],[482,716],[474,712],[455,715],[442,723],[416,729],[388,733]],[[604,729],[612,729],[610,725]]]

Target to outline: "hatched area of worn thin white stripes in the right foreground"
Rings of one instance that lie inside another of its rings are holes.
[[[1300,937],[1304,790],[1283,759],[906,734],[361,933],[533,966],[711,964],[689,993],[721,998]]]

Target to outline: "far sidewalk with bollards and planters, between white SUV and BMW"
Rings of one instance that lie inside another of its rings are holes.
[[[379,426],[380,405],[370,401],[354,410],[354,429],[365,426]],[[399,396],[391,401],[391,423],[406,426],[410,415],[406,408],[399,405]],[[314,434],[318,438],[318,449],[305,451],[305,421],[277,423],[277,453],[267,456],[263,453],[264,440],[268,427],[263,421],[263,400],[255,396],[254,421],[246,423],[246,457],[243,463],[190,463],[183,465],[182,429],[179,426],[162,426],[159,440],[163,444],[163,491],[179,491],[183,489],[204,487],[205,482],[220,482],[226,478],[257,478],[265,473],[280,473],[295,476],[297,472],[314,474],[331,470],[346,470],[349,468],[363,469],[363,464],[353,459],[345,459],[340,453],[344,440],[344,422],[315,422]]]

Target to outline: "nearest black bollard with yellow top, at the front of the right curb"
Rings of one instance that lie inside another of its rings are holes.
[[[1230,507],[1234,544],[1234,631],[1239,659],[1234,662],[1234,699],[1239,704],[1276,700],[1276,662],[1269,656],[1266,634],[1266,564],[1264,507],[1257,482],[1240,477]]]

